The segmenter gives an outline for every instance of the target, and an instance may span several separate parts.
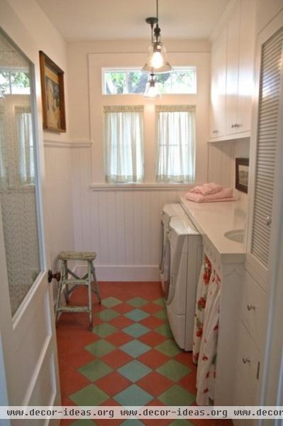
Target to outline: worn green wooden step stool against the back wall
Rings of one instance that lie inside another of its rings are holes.
[[[99,285],[96,280],[94,259],[96,258],[95,251],[61,251],[58,255],[58,260],[61,261],[61,278],[59,282],[57,301],[56,301],[56,321],[59,312],[89,312],[89,329],[93,327],[92,322],[92,301],[91,290],[96,294],[99,303],[101,297],[99,293]],[[68,261],[85,261],[87,262],[87,273],[79,278],[73,271],[68,268]],[[72,276],[69,279],[69,275]],[[94,279],[94,285],[91,286],[91,275]],[[70,306],[69,296],[77,288],[78,285],[86,285],[88,289],[89,305],[88,306]],[[60,306],[60,297],[64,289],[65,300],[67,306]]]

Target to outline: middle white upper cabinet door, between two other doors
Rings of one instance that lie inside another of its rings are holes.
[[[226,134],[235,133],[238,107],[240,1],[236,1],[227,26]]]

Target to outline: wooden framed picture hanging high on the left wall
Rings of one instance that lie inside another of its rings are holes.
[[[64,72],[42,50],[39,53],[43,129],[66,131]]]

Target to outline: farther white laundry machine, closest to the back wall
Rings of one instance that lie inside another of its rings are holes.
[[[166,253],[167,239],[169,234],[169,225],[172,217],[187,217],[181,204],[165,204],[160,214],[160,244],[159,244],[159,271],[162,288],[167,293],[167,271],[165,271],[165,258],[168,258]]]

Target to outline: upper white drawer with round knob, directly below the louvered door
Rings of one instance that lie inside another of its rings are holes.
[[[266,295],[255,279],[245,271],[243,285],[243,299],[240,317],[245,323],[248,332],[253,338],[257,349],[262,348],[262,339],[265,336],[266,322]]]

